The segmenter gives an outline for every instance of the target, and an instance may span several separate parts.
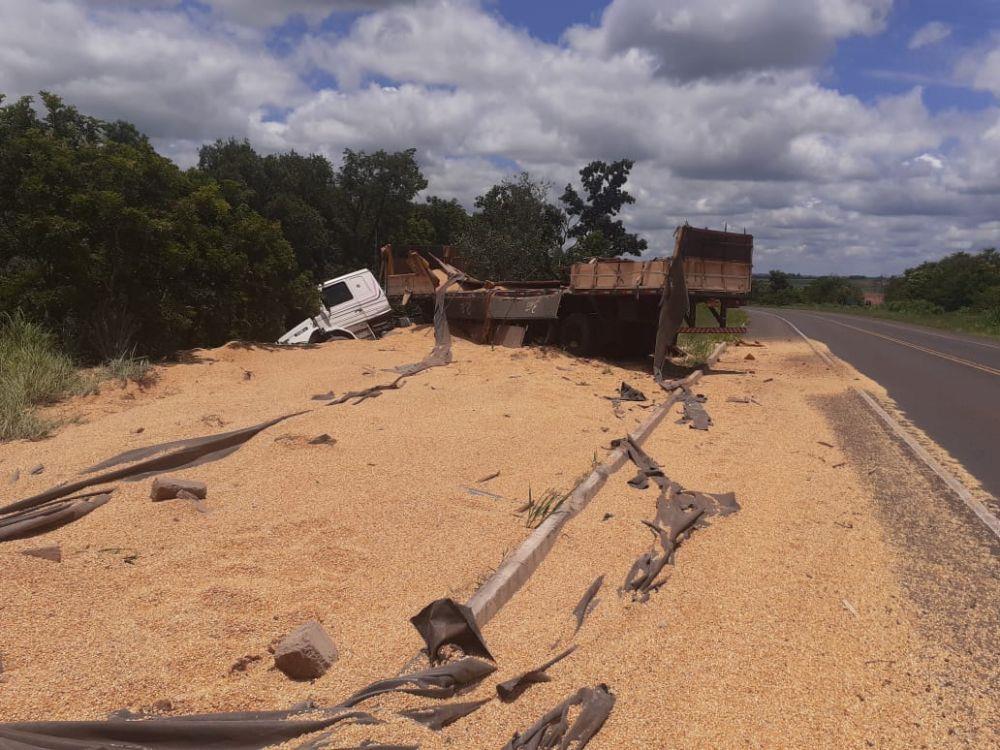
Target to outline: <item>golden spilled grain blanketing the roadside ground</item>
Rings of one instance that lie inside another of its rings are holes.
[[[184,472],[208,483],[208,513],[152,503],[143,480],[75,524],[0,546],[0,717],[101,718],[157,701],[171,714],[332,705],[395,675],[421,646],[408,618],[439,597],[467,599],[528,533],[514,512],[528,488],[569,490],[648,415],[624,405],[618,418],[604,396],[624,378],[663,400],[631,368],[456,341],[453,364],[399,391],[358,406],[310,401],[385,382],[381,368],[430,344],[429,330],[410,329],[379,342],[203,351],[145,391],[61,407],[79,422],[49,440],[0,446],[0,476],[45,465],[0,485],[7,501],[128,448],[313,409]],[[617,702],[588,746],[597,750],[996,747],[996,629],[985,617],[942,637],[963,613],[929,614],[942,600],[922,598],[911,579],[949,571],[917,565],[887,515],[929,497],[930,480],[857,416],[856,381],[804,344],[733,348],[717,369],[696,389],[713,427],[672,415],[644,447],[687,488],[735,491],[740,513],[685,541],[663,588],[632,602],[618,588],[650,546],[641,521],[656,495],[626,484],[627,465],[484,628],[498,671],[459,700],[488,697],[578,644],[551,682],[436,733],[395,713],[427,699],[377,698],[363,708],[386,723],[345,726],[336,742],[500,748],[578,688],[606,683]],[[726,400],[735,395],[758,403]],[[306,442],[321,433],[336,444]],[[18,554],[48,544],[61,545],[62,563]],[[977,606],[995,611],[995,550],[964,559],[962,575],[979,576]],[[600,602],[574,636],[571,611],[602,574]],[[293,682],[267,647],[310,617],[340,659]],[[231,674],[247,655],[261,659]]]

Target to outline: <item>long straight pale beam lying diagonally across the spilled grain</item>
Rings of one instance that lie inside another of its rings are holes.
[[[707,369],[718,361],[719,357],[726,349],[726,344],[721,343],[708,357],[705,363]],[[688,375],[682,381],[685,385],[693,385],[704,374],[703,370],[697,370]],[[642,443],[652,434],[653,430],[663,421],[670,408],[676,404],[683,394],[684,389],[678,388],[671,393],[667,400],[658,406],[645,422],[636,427],[629,434],[629,439],[636,445]],[[475,615],[476,622],[483,626],[489,622],[500,609],[511,600],[514,594],[523,586],[531,575],[541,565],[549,551],[555,546],[559,532],[566,523],[577,513],[582,511],[587,504],[597,495],[601,487],[612,474],[618,471],[627,460],[627,451],[624,446],[619,446],[608,454],[604,461],[596,466],[587,477],[578,484],[570,493],[567,502],[552,513],[536,528],[527,539],[497,568],[497,571],[490,576],[486,582],[472,595],[468,601],[468,607]]]

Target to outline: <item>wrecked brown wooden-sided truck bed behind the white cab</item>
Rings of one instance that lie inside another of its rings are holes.
[[[742,333],[727,327],[726,313],[749,297],[753,236],[682,226],[674,237],[670,258],[575,263],[568,284],[465,278],[446,292],[448,321],[480,343],[559,344],[580,355],[647,355],[672,347],[678,333]],[[435,290],[462,270],[450,246],[382,248],[389,299],[427,319]],[[699,302],[716,326],[697,327]]]

